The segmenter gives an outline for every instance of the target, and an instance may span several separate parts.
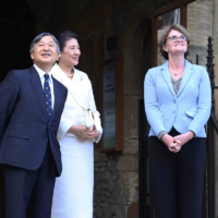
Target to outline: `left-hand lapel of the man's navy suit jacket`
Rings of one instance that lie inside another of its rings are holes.
[[[35,90],[37,98],[38,98],[41,111],[45,116],[45,119],[48,120],[48,113],[47,113],[47,108],[46,108],[46,98],[45,98],[45,94],[43,90],[40,77],[34,66],[32,66],[29,69],[29,74],[31,74],[29,81],[31,81],[31,84]]]

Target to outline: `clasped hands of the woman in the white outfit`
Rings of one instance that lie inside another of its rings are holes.
[[[73,133],[76,137],[78,137],[82,141],[88,141],[88,140],[97,140],[99,137],[99,131],[96,130],[96,126],[93,126],[93,131],[88,130],[84,125],[72,125],[69,130],[69,132]]]

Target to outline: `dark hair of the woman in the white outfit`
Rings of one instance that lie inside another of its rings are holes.
[[[63,31],[59,34],[58,41],[60,45],[60,51],[63,51],[66,41],[71,40],[72,38],[75,38],[80,43],[81,37],[72,31]]]

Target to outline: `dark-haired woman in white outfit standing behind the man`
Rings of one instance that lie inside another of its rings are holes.
[[[56,180],[51,218],[92,218],[94,187],[93,142],[101,137],[99,112],[96,110],[90,81],[78,71],[78,36],[62,32],[59,36],[59,63],[52,75],[69,90],[58,131],[62,155],[62,174]],[[93,131],[85,128],[85,110],[95,117]]]

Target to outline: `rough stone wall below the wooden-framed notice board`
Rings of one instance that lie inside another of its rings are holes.
[[[138,149],[126,140],[122,153],[95,150],[94,218],[138,217]]]

